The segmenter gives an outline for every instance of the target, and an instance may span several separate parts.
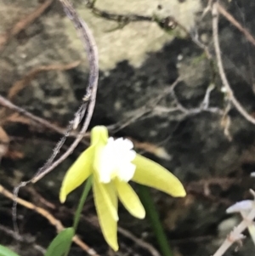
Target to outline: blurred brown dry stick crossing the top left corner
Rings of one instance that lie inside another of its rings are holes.
[[[3,46],[6,43],[8,43],[8,41],[12,37],[19,34],[20,31],[23,31],[24,29],[26,29],[26,27],[29,26],[31,23],[33,23],[34,20],[37,20],[37,18],[40,17],[46,9],[48,9],[51,3],[53,3],[53,0],[45,1],[31,14],[26,15],[25,19],[18,21],[10,31],[4,33],[3,35],[0,35],[0,51],[3,49]]]

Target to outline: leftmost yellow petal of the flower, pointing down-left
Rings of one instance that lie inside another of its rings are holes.
[[[71,168],[68,169],[63,179],[59,199],[60,202],[65,202],[66,196],[92,174],[92,165],[94,159],[94,146],[90,146],[86,151],[77,158]]]

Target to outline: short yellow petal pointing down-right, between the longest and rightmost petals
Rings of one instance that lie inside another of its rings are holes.
[[[139,196],[133,191],[131,185],[119,179],[115,179],[115,185],[118,196],[127,211],[136,218],[144,219],[144,206],[140,202]]]

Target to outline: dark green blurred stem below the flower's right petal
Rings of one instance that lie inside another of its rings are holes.
[[[162,228],[159,215],[156,211],[156,207],[148,187],[139,185],[139,198],[144,205],[147,216],[150,219],[150,225],[154,231],[154,235],[156,236],[156,240],[161,249],[162,255],[173,256],[173,252],[171,247],[169,247],[169,243],[167,242],[167,236]]]

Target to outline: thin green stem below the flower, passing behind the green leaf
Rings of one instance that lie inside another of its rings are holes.
[[[84,185],[84,190],[82,192],[82,196],[80,198],[80,201],[79,201],[79,204],[78,204],[78,207],[77,207],[77,211],[76,211],[76,214],[75,214],[75,217],[74,217],[74,220],[73,220],[73,225],[72,225],[75,233],[77,231],[77,226],[78,226],[80,218],[81,218],[82,208],[84,207],[85,201],[86,201],[87,196],[88,196],[88,192],[90,191],[91,186],[92,186],[92,179],[93,179],[92,175],[90,177],[88,177],[87,182]],[[71,249],[71,244],[68,247],[68,249],[66,250],[65,256],[67,256],[69,254],[70,249]]]

